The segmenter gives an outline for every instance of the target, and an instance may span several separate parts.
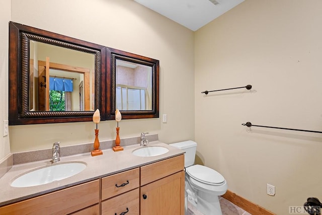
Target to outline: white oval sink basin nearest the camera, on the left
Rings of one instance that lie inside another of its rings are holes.
[[[48,184],[59,181],[70,176],[82,172],[86,168],[86,163],[72,162],[52,164],[38,168],[16,178],[12,183],[12,187],[31,187],[42,184]]]

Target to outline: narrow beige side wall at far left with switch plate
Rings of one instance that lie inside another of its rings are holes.
[[[8,120],[8,47],[10,0],[1,2],[0,7],[0,160],[10,153],[9,135],[3,137],[3,121]]]

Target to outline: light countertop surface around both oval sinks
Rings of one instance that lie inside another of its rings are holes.
[[[69,178],[32,187],[12,187],[10,184],[25,172],[42,166],[54,165],[50,162],[50,158],[45,161],[14,165],[2,178],[0,178],[0,206],[92,181],[108,175],[113,175],[115,173],[123,172],[160,160],[165,160],[184,153],[184,151],[171,147],[160,141],[150,142],[149,146],[162,146],[169,149],[169,152],[159,156],[138,157],[132,155],[132,151],[140,148],[140,146],[132,145],[123,147],[124,150],[120,152],[114,152],[112,149],[103,150],[103,155],[94,157],[91,156],[91,152],[61,157],[60,161],[57,163],[81,161],[87,163],[87,168]]]

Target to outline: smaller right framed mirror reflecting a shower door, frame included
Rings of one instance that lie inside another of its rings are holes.
[[[107,119],[159,117],[159,61],[107,48]]]

